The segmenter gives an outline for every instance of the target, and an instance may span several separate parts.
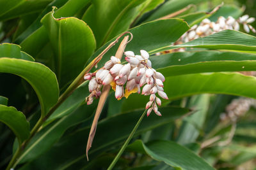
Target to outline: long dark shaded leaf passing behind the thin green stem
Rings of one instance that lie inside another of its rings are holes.
[[[163,117],[157,117],[152,114],[148,118],[144,118],[136,131],[135,136],[145,131],[154,129],[163,124],[173,122],[173,120],[184,116],[189,112],[186,108],[160,108]],[[84,114],[84,111],[81,111]],[[93,141],[92,148],[89,152],[90,159],[96,157],[102,152],[106,152],[113,146],[119,146],[129,136],[132,128],[140,118],[143,110],[122,113],[113,117],[100,120],[97,125],[97,132]],[[47,165],[51,165],[52,169],[66,169],[74,164],[81,163],[83,166],[88,164],[84,157],[84,147],[88,134],[90,132],[91,121],[86,122],[83,129],[79,129],[72,134],[60,139],[60,143],[54,145],[48,152],[31,162],[30,166],[36,166],[36,169],[45,169]],[[117,128],[118,127],[118,128]],[[74,147],[76,146],[76,147]],[[42,148],[38,148],[40,150]],[[47,158],[56,157],[54,160]],[[47,164],[42,162],[47,161]],[[75,166],[76,167],[76,166]],[[24,169],[29,169],[27,166]]]

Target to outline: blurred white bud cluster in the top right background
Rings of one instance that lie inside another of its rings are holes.
[[[244,15],[243,17],[239,17],[239,19],[235,19],[231,16],[228,18],[219,17],[217,22],[211,22],[208,18],[202,20],[200,25],[193,25],[188,32],[182,35],[181,41],[188,42],[193,39],[197,39],[204,36],[209,36],[216,32],[223,31],[225,29],[231,29],[239,31],[240,24],[243,25],[244,31],[246,32],[256,32],[255,29],[250,25],[252,22],[255,21],[255,18],[250,17],[249,15]]]

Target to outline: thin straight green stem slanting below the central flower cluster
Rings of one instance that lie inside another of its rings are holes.
[[[145,110],[145,111],[142,113],[142,115],[141,115],[139,121],[137,122],[137,124],[136,124],[136,125],[134,126],[134,128],[132,129],[131,134],[129,134],[129,136],[128,136],[128,138],[126,139],[124,145],[123,145],[122,148],[119,150],[119,152],[117,153],[115,159],[111,162],[110,166],[108,167],[108,170],[113,169],[113,167],[115,166],[116,162],[117,162],[118,159],[121,157],[121,155],[122,155],[122,153],[124,152],[125,148],[127,147],[127,145],[129,144],[129,142],[131,141],[132,137],[134,136],[136,130],[138,129],[138,127],[139,127],[139,125],[140,125],[140,122],[141,122],[141,120],[143,119],[143,117],[145,116],[146,112],[147,112],[147,110]]]

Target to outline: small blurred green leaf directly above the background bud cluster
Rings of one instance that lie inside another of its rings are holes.
[[[222,16],[225,18],[228,18],[229,16],[238,18],[243,14],[242,8],[237,8],[236,6],[221,6],[220,10],[216,11],[214,15],[212,15],[209,19],[213,22],[216,22],[218,20],[218,17]]]

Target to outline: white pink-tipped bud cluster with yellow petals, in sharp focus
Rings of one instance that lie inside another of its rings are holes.
[[[100,96],[102,85],[111,85],[118,100],[122,97],[127,98],[132,93],[150,95],[150,101],[146,105],[147,116],[152,110],[156,115],[161,116],[157,107],[157,105],[161,106],[161,99],[156,94],[163,99],[168,99],[163,89],[163,74],[152,68],[148,52],[145,50],[140,50],[141,55],[135,55],[131,51],[124,54],[127,64],[121,64],[120,59],[112,56],[96,73],[84,75],[84,80],[90,80],[88,85],[90,95],[86,97],[87,104],[92,104],[93,99]],[[143,87],[142,92],[141,87]]]

